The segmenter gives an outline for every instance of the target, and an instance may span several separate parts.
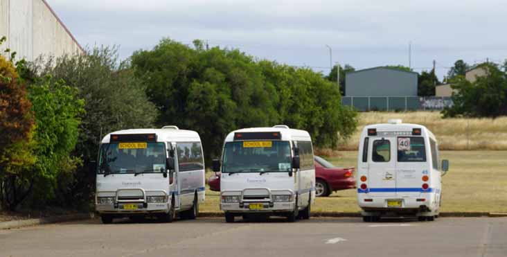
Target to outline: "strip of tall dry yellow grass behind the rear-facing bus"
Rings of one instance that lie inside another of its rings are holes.
[[[404,123],[424,125],[431,130],[441,150],[507,150],[507,117],[442,118],[439,112],[362,112],[353,136],[340,143],[340,150],[357,150],[365,125],[401,118]]]

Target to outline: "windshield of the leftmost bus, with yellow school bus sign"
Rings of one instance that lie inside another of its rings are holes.
[[[151,173],[166,168],[164,143],[103,143],[98,161],[99,173]]]

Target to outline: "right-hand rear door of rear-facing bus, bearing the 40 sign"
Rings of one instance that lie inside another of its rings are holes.
[[[417,197],[424,190],[422,179],[429,180],[425,140],[422,136],[398,136],[395,143],[398,197]]]

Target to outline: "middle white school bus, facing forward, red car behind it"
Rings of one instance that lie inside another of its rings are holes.
[[[226,136],[222,163],[213,161],[213,170],[220,168],[226,222],[240,215],[310,218],[315,168],[308,132],[286,125],[235,130]]]

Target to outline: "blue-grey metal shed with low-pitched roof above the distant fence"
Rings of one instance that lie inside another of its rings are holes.
[[[417,96],[416,72],[375,67],[346,73],[346,96]]]

